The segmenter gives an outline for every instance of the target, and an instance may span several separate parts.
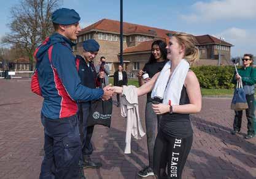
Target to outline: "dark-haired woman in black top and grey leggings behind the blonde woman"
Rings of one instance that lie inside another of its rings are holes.
[[[151,46],[152,53],[149,58],[149,62],[145,64],[144,68],[139,71],[139,86],[144,84],[152,78],[156,73],[161,71],[167,62],[166,59],[166,43],[163,40],[155,40]],[[149,74],[149,78],[143,80],[142,75],[144,73]],[[158,128],[158,123],[160,120],[160,115],[153,112],[151,92],[147,93],[147,103],[145,104],[145,126],[147,134],[147,150],[149,153],[149,166],[144,167],[144,169],[138,172],[141,177],[147,177],[153,174],[153,146],[155,144],[156,128]]]

